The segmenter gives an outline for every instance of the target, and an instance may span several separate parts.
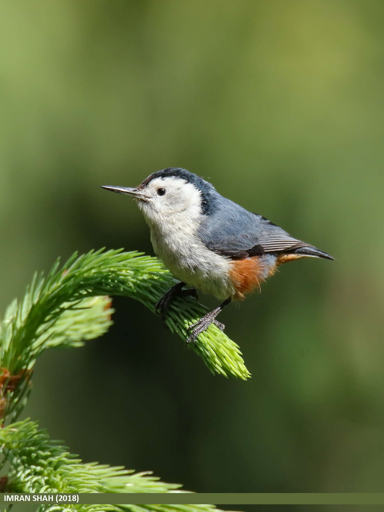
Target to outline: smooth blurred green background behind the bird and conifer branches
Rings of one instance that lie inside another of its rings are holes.
[[[384,4],[1,10],[1,311],[58,255],[153,254],[133,201],[100,185],[168,166],[336,258],[222,313],[249,381],[116,298],[108,334],[41,357],[25,416],[84,460],[198,492],[383,492]]]

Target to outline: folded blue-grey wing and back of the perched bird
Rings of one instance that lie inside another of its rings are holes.
[[[309,245],[229,199],[220,197],[216,204],[215,211],[205,216],[198,230],[199,238],[212,251],[229,258],[242,259]]]

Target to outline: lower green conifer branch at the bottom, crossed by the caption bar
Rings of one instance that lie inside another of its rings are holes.
[[[151,472],[83,463],[45,430],[28,419],[0,429],[0,444],[10,465],[7,492],[13,493],[172,493],[180,484],[161,482]],[[100,508],[100,507],[103,508]],[[56,508],[54,508],[56,507]],[[132,512],[216,512],[211,505],[67,505],[68,510],[132,510]],[[40,512],[57,510],[42,504]]]

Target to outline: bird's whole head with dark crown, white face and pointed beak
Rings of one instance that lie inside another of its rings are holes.
[[[102,188],[133,197],[147,222],[158,226],[208,215],[214,207],[216,192],[213,185],[180,167],[158,170],[136,188]]]

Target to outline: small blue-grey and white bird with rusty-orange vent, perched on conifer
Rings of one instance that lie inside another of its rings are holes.
[[[198,298],[199,290],[223,301],[189,327],[186,343],[195,344],[212,323],[224,330],[218,314],[230,302],[260,289],[283,263],[305,257],[334,259],[221,196],[211,183],[181,167],[158,170],[135,188],[102,188],[137,201],[157,257],[179,280],[156,304],[163,320],[176,296]]]

